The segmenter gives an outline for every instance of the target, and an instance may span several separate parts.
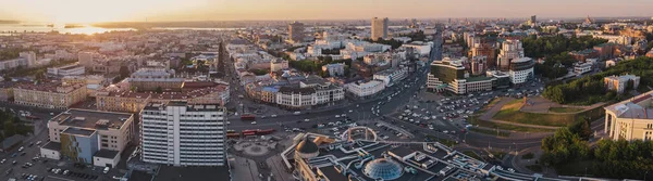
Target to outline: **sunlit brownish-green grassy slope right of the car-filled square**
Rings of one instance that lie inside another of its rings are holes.
[[[523,105],[521,100],[512,101],[501,107],[501,111],[493,118],[504,121],[554,127],[565,127],[576,120],[576,115],[574,114],[556,115],[520,112],[519,108],[521,105]]]

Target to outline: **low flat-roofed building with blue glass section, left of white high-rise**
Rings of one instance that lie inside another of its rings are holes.
[[[134,116],[125,113],[67,109],[48,121],[49,142],[42,157],[115,167],[132,142]]]

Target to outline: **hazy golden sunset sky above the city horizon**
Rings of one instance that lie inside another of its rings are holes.
[[[52,23],[653,16],[653,0],[0,0],[0,20]]]

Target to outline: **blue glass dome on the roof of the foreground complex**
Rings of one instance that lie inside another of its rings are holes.
[[[402,177],[404,168],[392,159],[379,158],[365,165],[362,173],[372,179],[395,180]]]

